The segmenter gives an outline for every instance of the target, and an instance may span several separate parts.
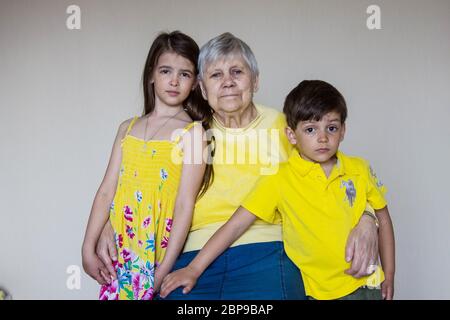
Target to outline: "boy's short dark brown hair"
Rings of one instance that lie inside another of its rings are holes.
[[[342,94],[331,84],[321,80],[304,80],[286,97],[283,112],[288,126],[295,130],[300,121],[320,121],[335,111],[341,123],[347,119],[347,104]]]

